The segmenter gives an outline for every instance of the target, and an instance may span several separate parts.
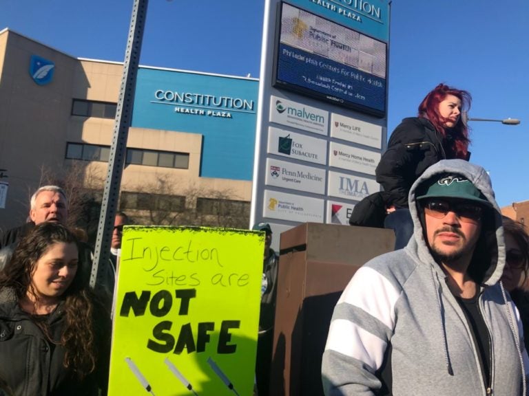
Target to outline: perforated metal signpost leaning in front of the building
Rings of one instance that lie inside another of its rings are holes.
[[[138,74],[148,3],[148,0],[134,0],[132,17],[130,18],[129,37],[123,63],[123,77],[116,108],[116,119],[114,120],[112,144],[110,146],[107,179],[105,180],[101,214],[99,215],[97,228],[94,263],[92,263],[92,272],[90,274],[90,287],[92,288],[96,286],[96,283],[101,282],[101,267],[110,265],[110,237],[114,231],[114,216],[121,188],[123,164],[125,164],[127,136],[132,119],[136,75]]]

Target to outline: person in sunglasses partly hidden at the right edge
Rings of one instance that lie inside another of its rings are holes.
[[[518,221],[504,217],[506,260],[501,282],[520,312],[523,339],[529,350],[529,291],[526,289],[529,270],[529,235]]]

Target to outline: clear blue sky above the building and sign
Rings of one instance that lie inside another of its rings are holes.
[[[10,28],[82,58],[123,61],[132,0],[0,0]],[[141,64],[259,76],[264,1],[151,0]],[[471,161],[490,172],[500,206],[529,199],[529,1],[394,0],[388,130],[438,83],[473,96]]]

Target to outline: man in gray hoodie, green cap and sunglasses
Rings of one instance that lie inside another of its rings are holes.
[[[442,160],[408,201],[406,248],[361,267],[335,307],[325,395],[526,395],[529,360],[498,283],[504,236],[486,171]]]

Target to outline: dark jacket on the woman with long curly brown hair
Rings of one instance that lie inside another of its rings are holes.
[[[53,340],[50,342],[36,319],[23,311],[17,301],[13,289],[0,290],[0,378],[10,386],[13,394],[98,395],[98,387],[107,386],[105,353],[101,351],[98,371],[79,381],[71,369],[63,366],[65,351],[59,342],[64,327],[61,305],[52,314],[40,316]],[[107,327],[110,329],[110,318]],[[110,331],[107,337],[110,340]],[[110,342],[105,344],[110,346]]]

